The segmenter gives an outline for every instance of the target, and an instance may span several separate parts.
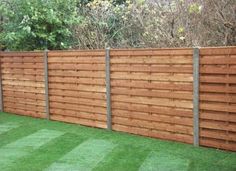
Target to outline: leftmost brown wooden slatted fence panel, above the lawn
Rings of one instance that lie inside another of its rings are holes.
[[[1,53],[5,112],[45,117],[43,67],[42,52]]]

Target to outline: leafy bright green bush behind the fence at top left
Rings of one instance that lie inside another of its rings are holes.
[[[0,44],[10,50],[67,49],[79,23],[76,0],[0,0]]]

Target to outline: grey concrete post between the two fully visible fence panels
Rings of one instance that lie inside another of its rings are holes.
[[[106,107],[107,107],[107,129],[112,130],[111,116],[111,83],[110,83],[110,48],[106,48]]]

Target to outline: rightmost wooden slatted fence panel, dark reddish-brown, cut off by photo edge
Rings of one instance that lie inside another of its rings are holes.
[[[200,145],[236,151],[236,48],[200,55]]]

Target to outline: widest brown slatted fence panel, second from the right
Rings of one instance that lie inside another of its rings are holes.
[[[111,50],[112,128],[193,143],[193,49]]]

